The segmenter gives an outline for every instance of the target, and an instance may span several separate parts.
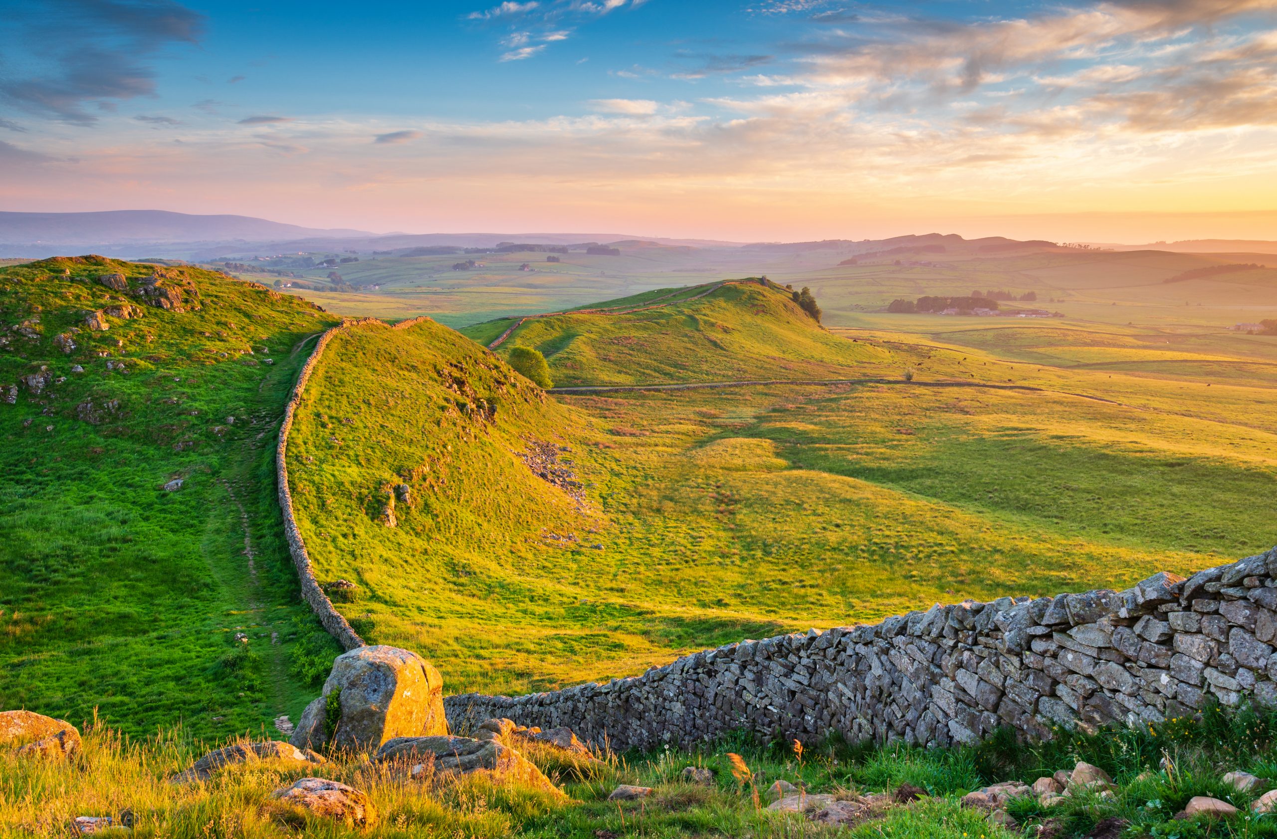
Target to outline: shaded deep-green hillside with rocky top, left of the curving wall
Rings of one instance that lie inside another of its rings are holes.
[[[331,646],[296,605],[271,461],[306,338],[335,321],[193,268],[142,294],[153,271],[0,269],[0,707],[269,727],[312,690],[296,641]]]

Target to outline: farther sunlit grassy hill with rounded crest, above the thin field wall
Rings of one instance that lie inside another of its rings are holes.
[[[481,340],[511,323],[462,332]],[[540,350],[558,386],[899,375],[903,361],[821,329],[790,291],[759,281],[664,289],[527,318],[498,351],[515,346]]]

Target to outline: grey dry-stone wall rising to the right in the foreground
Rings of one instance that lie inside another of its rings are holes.
[[[552,693],[444,700],[452,730],[506,716],[613,748],[733,730],[812,741],[974,742],[1011,725],[1096,729],[1277,705],[1277,548],[1125,591],[1001,598],[875,626],[742,641],[642,676]]]

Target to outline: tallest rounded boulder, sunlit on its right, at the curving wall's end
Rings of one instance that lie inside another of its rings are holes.
[[[335,720],[328,719],[329,705],[340,709]],[[374,751],[396,737],[447,733],[439,672],[416,653],[361,646],[332,663],[323,693],[303,711],[289,742],[298,748]]]

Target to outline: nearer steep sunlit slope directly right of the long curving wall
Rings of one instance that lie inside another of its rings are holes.
[[[581,547],[595,521],[582,439],[573,412],[432,321],[336,333],[287,451],[315,576],[358,586],[335,605],[365,640],[447,660],[453,686],[531,677],[526,651],[575,603],[543,545]]]

